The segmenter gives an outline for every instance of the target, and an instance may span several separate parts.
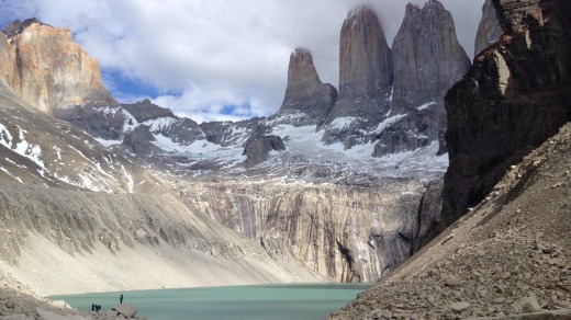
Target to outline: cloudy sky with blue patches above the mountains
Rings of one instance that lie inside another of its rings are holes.
[[[473,55],[484,0],[441,0]],[[373,0],[389,45],[408,1]],[[423,5],[425,1],[411,1]],[[309,48],[337,87],[339,31],[356,0],[0,0],[0,25],[35,16],[71,28],[120,102],[149,98],[194,121],[271,115],[290,53]]]

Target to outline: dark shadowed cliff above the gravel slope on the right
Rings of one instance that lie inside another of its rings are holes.
[[[446,96],[451,222],[571,119],[571,2],[494,0],[505,35]]]

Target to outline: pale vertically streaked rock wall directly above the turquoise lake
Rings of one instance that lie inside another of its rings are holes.
[[[425,187],[392,180],[376,187],[275,181],[198,182],[181,193],[195,210],[336,281],[372,282],[413,252]],[[429,205],[426,205],[428,208]],[[425,230],[423,230],[425,232]]]

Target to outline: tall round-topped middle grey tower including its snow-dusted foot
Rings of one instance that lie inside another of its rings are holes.
[[[323,140],[332,144],[377,126],[390,108],[392,79],[392,53],[377,13],[369,7],[350,11],[340,32],[339,95]],[[340,118],[356,121],[345,126]]]

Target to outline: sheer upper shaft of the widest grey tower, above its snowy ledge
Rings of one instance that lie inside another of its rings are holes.
[[[452,15],[440,2],[430,0],[422,9],[406,5],[393,41],[393,108],[406,112],[435,102],[428,107],[445,117],[444,96],[468,71],[470,59],[458,43]]]

